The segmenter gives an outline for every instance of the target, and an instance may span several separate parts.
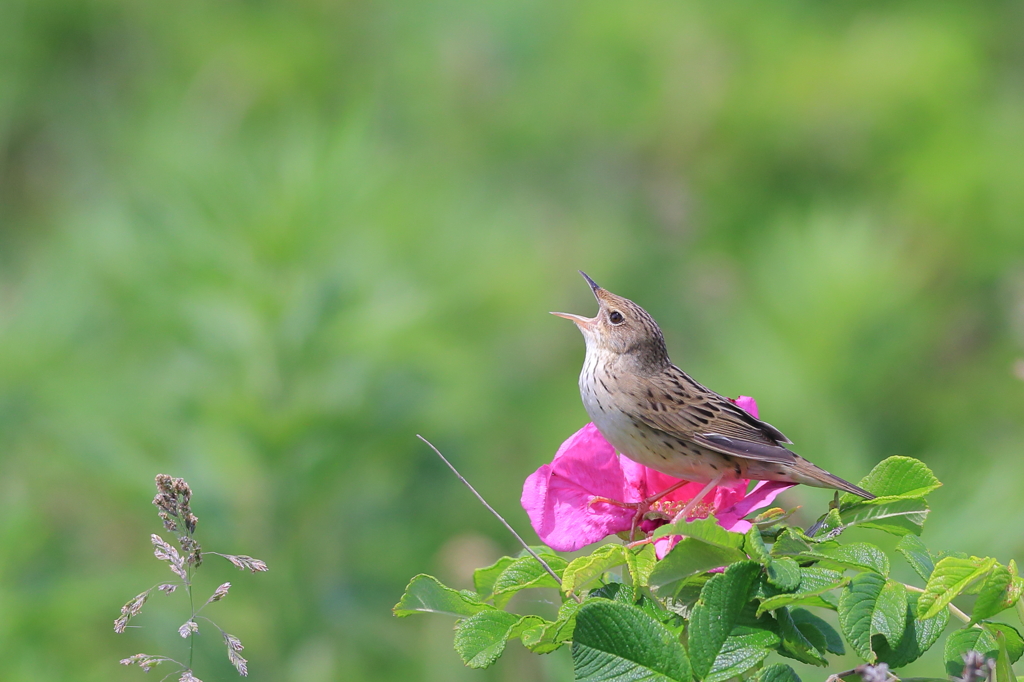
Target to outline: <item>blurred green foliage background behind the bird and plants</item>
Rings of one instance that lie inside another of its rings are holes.
[[[1017,2],[5,0],[0,677],[182,655],[179,595],[112,629],[166,472],[270,566],[199,579],[251,679],[569,679],[390,607],[516,551],[415,434],[529,530],[577,268],[816,463],[926,461],[933,547],[1024,559],[1022,216]]]

